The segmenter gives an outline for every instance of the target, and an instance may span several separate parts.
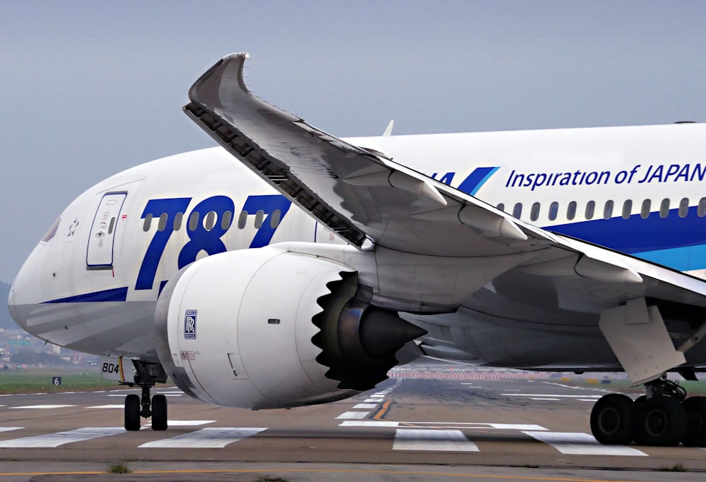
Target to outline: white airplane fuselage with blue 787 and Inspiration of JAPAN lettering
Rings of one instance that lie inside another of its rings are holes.
[[[696,276],[706,268],[704,125],[347,141],[501,205],[523,221]],[[28,332],[56,345],[158,361],[155,302],[179,268],[208,254],[285,241],[344,244],[220,147],[170,156],[102,181],[64,209],[56,233],[35,247],[18,273],[11,311]],[[503,295],[484,289],[456,314],[426,317],[453,332],[450,355],[459,350],[458,357],[540,366],[552,363],[547,355],[556,345],[563,346],[556,359],[563,366],[615,364],[590,317],[586,335],[596,335],[593,348],[605,348],[604,354],[592,349],[578,361],[564,360],[574,348],[559,334],[542,357],[517,354],[503,361],[474,336],[482,337],[498,319],[512,319],[513,329],[523,321],[562,322],[524,305],[522,313],[508,316],[512,307],[498,307],[493,293]],[[480,323],[474,333],[460,327],[474,320]]]

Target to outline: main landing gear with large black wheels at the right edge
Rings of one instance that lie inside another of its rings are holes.
[[[686,398],[686,390],[666,376],[645,383],[647,395],[602,397],[591,412],[591,431],[600,443],[706,447],[706,397]]]

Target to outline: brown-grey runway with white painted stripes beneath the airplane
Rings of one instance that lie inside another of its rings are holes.
[[[590,435],[589,415],[606,388],[609,385],[576,388],[552,379],[400,378],[341,402],[258,412],[214,407],[175,388],[161,388],[154,393],[163,393],[169,400],[166,432],[152,431],[148,420],[138,432],[124,431],[122,401],[126,393],[137,390],[4,395],[0,396],[0,472],[10,475],[0,475],[0,481],[28,480],[29,476],[19,474],[42,473],[30,468],[61,472],[69,464],[88,470],[121,461],[152,470],[171,470],[177,464],[195,469],[205,462],[208,467],[224,468],[245,462],[296,463],[299,468],[301,464],[354,464],[357,470],[389,464],[399,470],[414,464],[433,468],[436,474],[443,472],[440,465],[513,467],[529,471],[534,480],[548,480],[537,478],[544,469],[555,474],[557,470],[645,470],[682,464],[689,471],[706,471],[706,453],[698,448],[599,445]],[[642,478],[627,478],[626,472],[619,475],[619,479],[587,480],[646,480],[644,472]],[[678,475],[686,474],[670,474],[669,480],[679,480]],[[295,478],[311,480],[302,476]],[[208,480],[219,479],[209,476]],[[287,480],[294,478],[287,476]],[[369,474],[365,480],[374,479]]]

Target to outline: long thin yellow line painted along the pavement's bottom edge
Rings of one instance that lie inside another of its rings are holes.
[[[136,470],[130,474],[261,474],[268,472],[271,474],[282,473],[316,473],[316,474],[400,474],[419,475],[433,477],[465,477],[465,478],[502,478],[504,480],[515,481],[549,481],[549,482],[635,482],[616,481],[602,478],[567,478],[567,477],[541,477],[541,476],[509,476],[509,475],[485,475],[485,474],[452,474],[448,472],[424,472],[405,470],[358,470],[358,469],[188,469],[188,470]],[[96,475],[107,474],[107,471],[71,471],[71,472],[2,472],[1,476],[40,476],[40,475]]]

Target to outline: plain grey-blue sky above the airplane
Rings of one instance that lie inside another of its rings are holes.
[[[102,178],[213,146],[193,80],[342,137],[706,120],[705,1],[3,1],[0,280]],[[403,161],[398,159],[397,161]]]

